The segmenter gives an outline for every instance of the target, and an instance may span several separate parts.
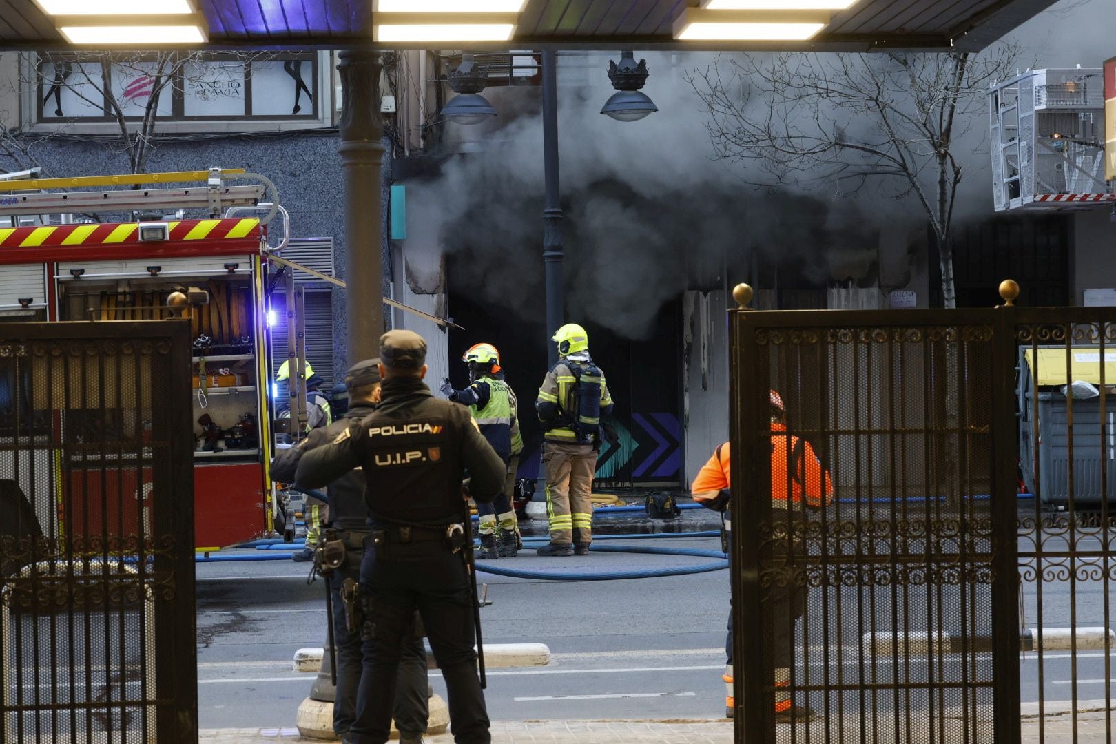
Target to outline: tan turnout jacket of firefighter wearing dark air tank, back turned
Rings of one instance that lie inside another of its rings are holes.
[[[613,412],[613,396],[604,371],[588,354],[578,352],[547,371],[535,408],[547,427],[547,442],[597,444],[600,417]]]

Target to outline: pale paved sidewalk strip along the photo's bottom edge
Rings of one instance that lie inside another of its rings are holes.
[[[1114,713],[1113,724],[1116,726],[1116,713]],[[1040,741],[1045,744],[1070,742],[1074,741],[1072,725],[1072,717],[1069,715],[1047,715],[1042,719],[1043,737],[1040,740],[1039,719],[1024,716],[1021,722],[1022,741],[1024,744],[1039,744]],[[1078,744],[1107,742],[1105,714],[1103,712],[1078,713],[1077,734]],[[886,738],[885,733],[884,738]],[[452,744],[453,737],[446,733],[426,736],[425,741],[426,744]],[[914,743],[916,737],[906,741]],[[980,741],[985,740],[981,738]],[[987,741],[991,742],[991,736]],[[201,744],[294,744],[295,742],[325,744],[321,740],[302,738],[294,727],[219,728],[201,733]],[[732,744],[732,722],[533,721],[493,723],[492,742],[493,744]],[[937,744],[937,742],[926,741],[917,744]]]

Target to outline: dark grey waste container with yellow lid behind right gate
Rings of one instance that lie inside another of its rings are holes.
[[[1065,346],[1019,350],[1020,470],[1027,490],[1042,503],[1061,505],[1069,502],[1070,442],[1074,446],[1075,505],[1100,504],[1101,462],[1105,461],[1107,499],[1109,502],[1116,499],[1116,349],[1105,349],[1104,373],[1105,421],[1101,422],[1099,397],[1075,398],[1071,432],[1069,403],[1062,387],[1074,380],[1084,380],[1099,389],[1099,347],[1072,347],[1068,355]]]

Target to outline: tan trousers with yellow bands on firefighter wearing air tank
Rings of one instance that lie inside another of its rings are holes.
[[[588,444],[543,442],[547,473],[547,515],[550,542],[588,544],[593,541],[593,476],[597,451]]]

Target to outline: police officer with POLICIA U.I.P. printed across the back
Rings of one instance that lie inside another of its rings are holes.
[[[415,608],[449,690],[459,744],[490,744],[489,717],[477,674],[469,567],[463,558],[462,477],[472,496],[491,502],[504,465],[469,410],[431,395],[423,383],[426,342],[407,330],[379,339],[383,397],[364,421],[302,455],[298,483],[320,486],[363,467],[372,537],[360,567],[371,599],[364,674],[353,744],[387,742],[395,673]]]

